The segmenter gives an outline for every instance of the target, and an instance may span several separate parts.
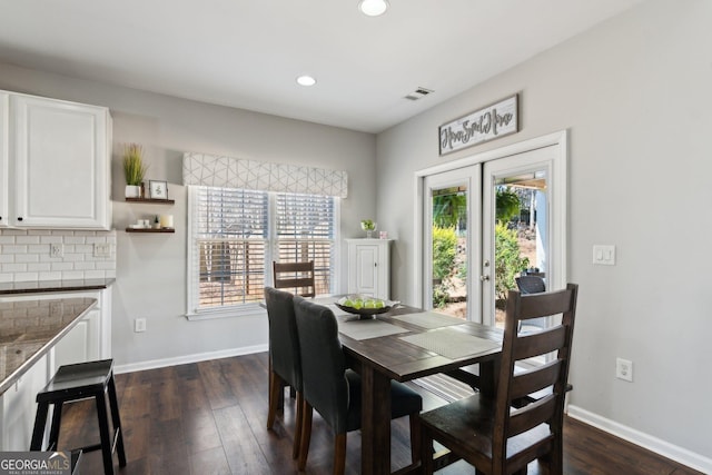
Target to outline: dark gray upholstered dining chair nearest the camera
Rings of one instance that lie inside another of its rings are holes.
[[[306,468],[312,437],[313,409],[334,431],[334,474],[343,474],[346,464],[346,433],[360,428],[360,377],[346,368],[346,356],[338,339],[338,326],[330,309],[294,298],[301,355],[304,420],[298,467]],[[407,386],[390,383],[390,418],[411,417],[411,452],[419,458],[417,417],[423,408],[421,396]]]

